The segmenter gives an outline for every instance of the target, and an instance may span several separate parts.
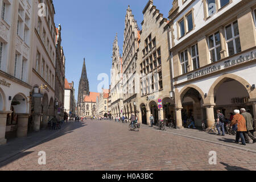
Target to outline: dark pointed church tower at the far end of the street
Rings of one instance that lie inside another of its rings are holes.
[[[79,82],[79,94],[77,98],[78,104],[83,102],[84,97],[89,96],[89,94],[90,94],[89,81],[87,78],[85,58],[84,58],[84,65],[82,65],[82,73],[81,73],[80,82]]]

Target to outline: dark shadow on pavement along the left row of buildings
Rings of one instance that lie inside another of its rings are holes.
[[[63,135],[66,135],[66,134],[69,134],[69,133],[73,133],[75,130],[79,129],[80,127],[84,127],[84,126],[87,126],[86,123],[81,123],[81,122],[70,122],[70,123],[65,123],[65,125],[69,124],[68,126],[64,127],[64,129],[61,129],[59,132],[53,134],[51,137],[49,138],[46,138],[44,139],[42,142],[39,142],[39,143],[36,143],[35,141],[35,144],[33,144],[32,146],[30,146],[29,148],[27,148],[31,143],[28,143],[28,144],[24,144],[22,147],[19,147],[16,149],[16,151],[23,151],[23,150],[29,150],[30,148],[33,148],[33,147],[36,147],[36,146],[39,146],[40,144],[43,144],[43,143],[46,143],[46,142],[49,142],[53,139],[56,139],[56,138],[59,138]],[[63,126],[63,125],[62,125]],[[26,137],[23,138],[24,139],[24,142],[26,142]],[[14,141],[15,142],[15,141]],[[9,143],[9,144],[6,144],[5,146],[1,146],[0,147],[0,150],[1,148],[3,147],[12,147],[12,143]],[[13,145],[13,147],[15,147]],[[14,151],[14,150],[12,150]],[[33,151],[34,152],[34,151]],[[10,153],[10,152],[9,152]],[[26,155],[29,155],[31,154],[32,152],[29,151],[29,152],[26,152],[26,151],[23,151],[23,152],[19,152],[18,154],[14,154],[14,156],[8,156],[10,154],[5,154],[7,159],[4,159],[2,160],[2,162],[0,162],[0,168],[3,167],[3,166],[6,166],[7,164],[9,163],[12,163],[14,162],[15,160],[18,160],[20,158],[23,158],[24,156]],[[3,155],[4,156],[4,155]],[[1,156],[2,157],[2,156]]]

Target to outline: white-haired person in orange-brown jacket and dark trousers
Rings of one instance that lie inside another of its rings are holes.
[[[241,138],[241,142],[245,146],[246,143],[244,134],[247,131],[245,118],[240,114],[239,110],[234,110],[234,114],[235,115],[232,119],[232,122],[230,123],[230,126],[237,124],[236,143],[239,143],[239,139]]]

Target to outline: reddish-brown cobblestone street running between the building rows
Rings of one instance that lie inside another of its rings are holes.
[[[0,163],[0,170],[256,170],[256,154],[110,121],[71,122],[65,129]],[[46,152],[46,165],[38,152]],[[209,165],[209,152],[217,165]]]

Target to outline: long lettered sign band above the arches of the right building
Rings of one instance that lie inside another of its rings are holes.
[[[246,61],[250,61],[250,60],[253,60],[256,58],[256,52],[251,52],[251,53],[247,53],[245,55],[241,55],[241,56],[237,56],[237,57],[234,57],[234,59],[230,59],[228,61],[224,61],[218,65],[212,65],[208,68],[204,68],[204,69],[201,69],[197,72],[194,72],[192,74],[189,74],[187,77],[188,77],[188,80],[191,80],[193,78],[197,78],[197,77],[200,77],[200,76],[204,76],[204,75],[208,75],[212,72],[217,72],[221,69],[225,69],[225,68],[228,68],[228,67],[232,67],[234,65],[237,65],[237,64],[241,64],[243,62],[246,62]]]

